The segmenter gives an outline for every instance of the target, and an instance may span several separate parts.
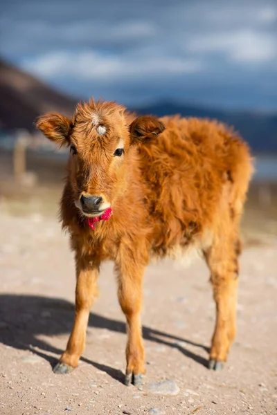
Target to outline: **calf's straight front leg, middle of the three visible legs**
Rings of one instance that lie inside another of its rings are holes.
[[[139,385],[145,374],[141,333],[141,302],[144,267],[118,266],[118,300],[127,322],[125,385]]]

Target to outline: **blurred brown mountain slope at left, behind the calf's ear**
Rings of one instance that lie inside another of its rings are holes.
[[[33,131],[39,114],[73,113],[75,102],[50,86],[0,59],[0,128]]]

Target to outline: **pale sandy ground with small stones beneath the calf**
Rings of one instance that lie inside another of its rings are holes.
[[[125,322],[109,263],[102,266],[80,366],[70,375],[52,372],[71,330],[75,286],[54,195],[53,203],[38,196],[28,203],[0,200],[1,415],[277,414],[276,221],[267,223],[269,232],[248,237],[238,335],[221,372],[206,368],[215,306],[204,262],[148,267],[147,377],[143,387],[125,387]],[[159,380],[167,380],[166,390],[152,385]]]

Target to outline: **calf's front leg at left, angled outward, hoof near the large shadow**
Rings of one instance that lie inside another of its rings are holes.
[[[87,323],[89,311],[93,299],[98,293],[98,266],[91,264],[87,259],[77,259],[76,261],[76,290],[75,290],[75,320],[73,330],[66,346],[66,351],[62,353],[60,361],[54,367],[55,374],[68,374],[75,367],[85,347]]]

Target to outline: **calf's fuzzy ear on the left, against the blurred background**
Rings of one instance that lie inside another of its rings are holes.
[[[57,142],[57,145],[63,146],[69,144],[71,120],[68,118],[60,116],[57,113],[47,113],[37,118],[35,126],[49,140]]]

